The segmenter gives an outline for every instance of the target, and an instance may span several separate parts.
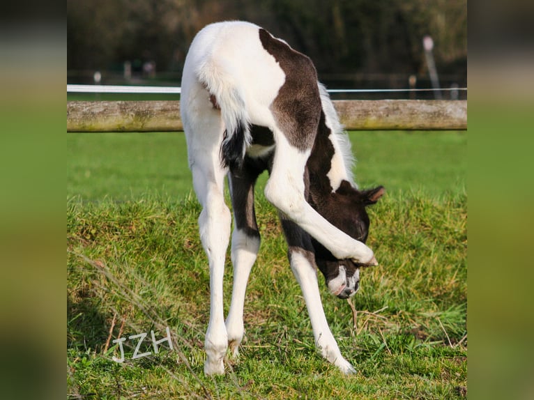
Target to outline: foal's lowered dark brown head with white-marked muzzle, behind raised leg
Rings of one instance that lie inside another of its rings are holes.
[[[318,206],[318,211],[338,229],[360,242],[365,243],[369,233],[369,216],[365,208],[376,203],[386,190],[375,187],[371,190],[357,190],[343,180],[340,187]],[[312,240],[315,261],[323,272],[330,293],[346,299],[354,295],[360,284],[360,267],[349,259],[336,259],[323,245]]]

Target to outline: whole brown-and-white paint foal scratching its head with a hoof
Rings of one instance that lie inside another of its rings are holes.
[[[190,169],[202,206],[200,238],[210,268],[204,372],[224,374],[228,346],[237,355],[243,339],[245,289],[260,243],[254,183],[266,169],[265,196],[280,212],[316,346],[341,371],[353,372],[328,328],[316,267],[334,295],[356,293],[360,266],[377,265],[364,244],[365,206],[376,203],[384,190],[359,191],[352,183],[349,141],[312,61],[259,26],[220,22],[194,38],[181,90]],[[231,229],[223,196],[227,174],[235,225],[234,289],[225,322],[222,283]]]

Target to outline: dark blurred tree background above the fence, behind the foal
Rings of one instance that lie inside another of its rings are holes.
[[[192,38],[222,20],[254,22],[283,38],[310,56],[328,89],[431,88],[429,63],[441,88],[467,85],[466,0],[68,0],[67,82],[179,86]],[[433,44],[426,53],[425,36]]]

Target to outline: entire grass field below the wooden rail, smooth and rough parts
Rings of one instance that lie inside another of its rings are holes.
[[[69,134],[69,398],[454,399],[466,396],[465,133],[351,132],[356,180],[388,192],[370,208],[363,270],[349,303],[319,278],[330,328],[358,374],[314,349],[275,210],[258,192],[262,244],[245,302],[246,341],[227,375],[202,373],[208,268],[179,133]],[[231,287],[231,264],[225,285]],[[225,298],[229,305],[229,290]],[[155,339],[169,328],[155,354]],[[124,341],[125,361],[113,340]],[[148,353],[132,358],[134,353]]]

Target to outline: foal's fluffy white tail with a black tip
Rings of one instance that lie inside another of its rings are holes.
[[[213,60],[201,66],[197,75],[211,94],[213,107],[220,109],[226,127],[220,148],[222,166],[239,168],[252,137],[238,77]]]

